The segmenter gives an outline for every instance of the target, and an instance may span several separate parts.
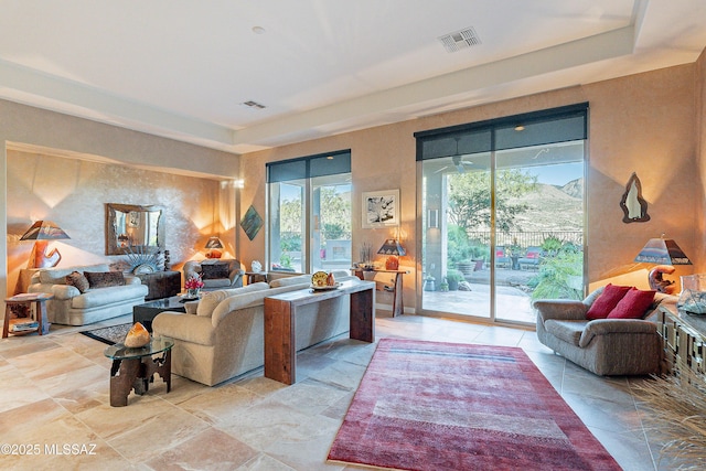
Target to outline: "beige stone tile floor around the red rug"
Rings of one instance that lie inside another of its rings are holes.
[[[174,376],[171,393],[158,378],[147,395],[114,408],[106,345],[79,330],[53,325],[50,335],[0,341],[0,445],[23,452],[2,456],[0,468],[360,469],[325,457],[374,344],[338,338],[300,353],[293,386],[261,371],[218,387]],[[533,331],[403,315],[379,317],[376,334],[520,346],[625,470],[670,469],[650,447],[630,393],[641,379],[597,377],[553,354]]]

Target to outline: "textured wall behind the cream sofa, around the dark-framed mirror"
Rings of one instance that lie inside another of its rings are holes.
[[[9,287],[14,287],[17,272],[25,267],[32,249],[32,243],[19,238],[38,220],[53,221],[69,235],[71,239],[53,244],[62,253],[62,266],[124,258],[105,255],[106,203],[162,206],[172,264],[181,266],[200,257],[207,237],[223,231],[221,186],[211,179],[10,150]]]

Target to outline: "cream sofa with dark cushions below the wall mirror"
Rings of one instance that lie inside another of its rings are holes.
[[[67,283],[72,274],[81,282]],[[54,295],[46,301],[50,322],[85,325],[132,312],[133,306],[145,302],[149,289],[137,277],[98,264],[39,269],[32,275],[28,291]]]

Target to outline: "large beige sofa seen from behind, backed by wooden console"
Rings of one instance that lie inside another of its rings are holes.
[[[336,280],[356,279],[334,271]],[[153,335],[174,340],[172,372],[213,386],[265,364],[265,298],[309,288],[310,275],[206,292],[186,313],[161,312]],[[296,350],[350,330],[350,296],[308,304],[297,317]]]

